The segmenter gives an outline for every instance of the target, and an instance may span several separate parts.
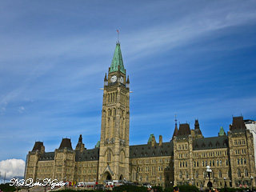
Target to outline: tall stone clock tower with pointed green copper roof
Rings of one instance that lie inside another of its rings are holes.
[[[104,78],[98,182],[129,178],[130,81],[117,42]]]

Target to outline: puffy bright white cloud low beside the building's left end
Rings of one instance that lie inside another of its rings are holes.
[[[6,173],[6,180],[14,177],[23,177],[25,170],[25,161],[22,159],[6,159],[0,162],[1,178],[4,178]]]

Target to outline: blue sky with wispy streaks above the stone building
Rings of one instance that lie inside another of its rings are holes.
[[[0,161],[35,141],[100,139],[102,90],[120,31],[130,75],[130,145],[168,142],[178,122],[205,137],[255,118],[255,1],[0,2]]]

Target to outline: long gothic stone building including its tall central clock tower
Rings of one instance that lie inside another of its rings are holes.
[[[26,158],[25,178],[58,181],[100,182],[126,179],[151,185],[190,184],[198,187],[255,185],[254,141],[242,117],[233,118],[226,135],[204,138],[198,120],[190,125],[175,123],[170,142],[156,142],[154,134],[145,145],[129,146],[130,80],[122,61],[120,43],[116,44],[111,66],[104,78],[101,140],[87,150],[82,135],[73,149],[63,138],[54,152],[45,152],[35,142]],[[210,166],[210,178],[206,173]]]

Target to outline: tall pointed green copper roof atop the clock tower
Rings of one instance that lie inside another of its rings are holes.
[[[110,66],[110,73],[114,71],[118,71],[118,66],[120,66],[120,71],[123,74],[126,74],[125,67],[123,66],[122,62],[122,53],[121,53],[121,48],[120,48],[120,42],[117,43],[117,46],[115,47],[114,50],[114,56],[111,62]]]

